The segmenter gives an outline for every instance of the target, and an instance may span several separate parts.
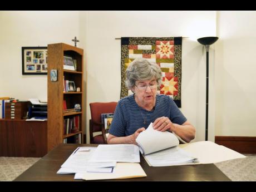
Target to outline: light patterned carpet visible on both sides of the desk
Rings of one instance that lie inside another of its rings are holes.
[[[0,157],[0,181],[12,181],[35,164],[35,157]],[[215,164],[232,181],[256,181],[256,155]]]

